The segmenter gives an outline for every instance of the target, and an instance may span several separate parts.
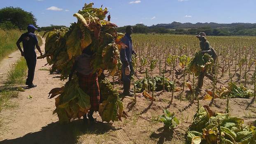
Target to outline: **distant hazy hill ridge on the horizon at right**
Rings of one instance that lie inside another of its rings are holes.
[[[203,27],[210,27],[210,28],[230,28],[230,27],[244,27],[244,28],[256,28],[256,23],[179,23],[179,22],[172,22],[172,23],[160,23],[157,25],[150,26],[154,27],[164,27],[170,29],[177,29],[177,28],[203,28]]]

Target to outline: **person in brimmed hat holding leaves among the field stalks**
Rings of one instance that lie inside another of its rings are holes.
[[[212,48],[212,46],[210,46],[209,41],[207,41],[206,34],[204,32],[200,32],[198,35],[196,35],[196,37],[200,40],[201,53],[202,54],[208,53],[210,56],[212,56],[214,63],[215,63],[216,59],[217,59],[217,53]],[[214,69],[213,69],[213,72],[214,72]],[[199,89],[202,89],[203,79],[204,79],[206,73],[207,73],[207,70],[204,70],[198,76],[198,88]]]

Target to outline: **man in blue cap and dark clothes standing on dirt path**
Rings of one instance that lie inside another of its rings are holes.
[[[40,52],[40,55],[42,55],[40,46],[38,45],[38,40],[35,33],[35,26],[28,25],[28,32],[23,33],[21,37],[16,42],[19,50],[21,51],[21,56],[24,56],[26,59],[26,63],[28,66],[28,78],[26,80],[26,85],[28,85],[29,88],[34,88],[37,85],[33,84],[33,79],[35,75],[35,65],[37,63],[37,55],[35,53],[35,46],[37,50]],[[23,45],[23,51],[21,49],[20,43],[22,42]]]

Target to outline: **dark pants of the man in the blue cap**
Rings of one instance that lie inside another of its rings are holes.
[[[37,57],[36,56],[25,56],[26,63],[28,66],[28,78],[26,80],[26,85],[32,85],[33,79],[35,75],[35,65],[37,63]]]

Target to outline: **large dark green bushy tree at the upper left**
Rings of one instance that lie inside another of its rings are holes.
[[[19,30],[26,30],[28,24],[36,25],[37,19],[31,12],[26,12],[20,7],[5,7],[0,9],[0,23],[12,23]]]

